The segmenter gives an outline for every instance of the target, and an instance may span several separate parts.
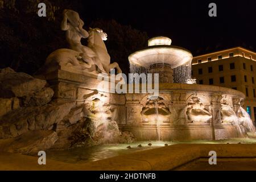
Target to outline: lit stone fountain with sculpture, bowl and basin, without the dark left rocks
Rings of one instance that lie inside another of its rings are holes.
[[[83,25],[75,11],[64,12],[61,27],[69,31],[66,39],[71,49],[51,53],[38,75],[51,85],[55,100],[72,101],[75,108],[83,107],[84,117],[94,123],[96,131],[117,123],[121,133],[132,133],[137,140],[224,139],[255,132],[241,106],[245,95],[229,88],[193,84],[191,52],[171,46],[172,41],[167,37],[152,38],[147,49],[129,56],[131,73],[159,74],[158,97],[141,92],[117,94],[99,87],[100,73],[109,77],[111,68],[117,68],[118,72],[121,69],[117,63],[110,64],[103,42],[106,34],[100,28],[86,32]],[[81,33],[76,34],[72,27],[79,27]],[[75,35],[70,38],[71,34]],[[87,46],[80,43],[81,38],[88,38]],[[112,138],[113,133],[107,135]]]

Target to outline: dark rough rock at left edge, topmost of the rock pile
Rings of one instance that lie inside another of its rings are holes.
[[[9,69],[0,73],[0,97],[23,97],[40,91],[46,85],[46,80],[39,80],[26,73],[16,73]]]

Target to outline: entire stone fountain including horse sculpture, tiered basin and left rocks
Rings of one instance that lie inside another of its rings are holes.
[[[132,73],[160,75],[158,96],[118,94],[101,87],[102,82],[117,84],[101,80],[112,77],[110,69],[121,73],[117,63],[110,63],[106,33],[100,28],[84,30],[75,11],[65,10],[63,16],[61,29],[67,32],[69,48],[53,51],[36,78],[9,68],[0,70],[1,150],[31,154],[49,148],[129,143],[134,137],[225,139],[255,133],[242,107],[245,95],[193,84],[192,54],[171,46],[166,37],[150,39],[147,49],[129,56]],[[87,38],[86,46],[82,38]]]

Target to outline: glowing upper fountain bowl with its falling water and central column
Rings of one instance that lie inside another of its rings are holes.
[[[186,83],[191,79],[192,54],[187,49],[171,46],[171,39],[148,40],[148,48],[132,53],[128,59],[131,73],[158,73],[160,82]]]

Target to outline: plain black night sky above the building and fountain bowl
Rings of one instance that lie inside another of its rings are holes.
[[[217,17],[208,5],[217,4]],[[84,1],[85,20],[115,19],[146,31],[148,36],[168,36],[172,45],[194,56],[242,46],[256,51],[256,1]]]

